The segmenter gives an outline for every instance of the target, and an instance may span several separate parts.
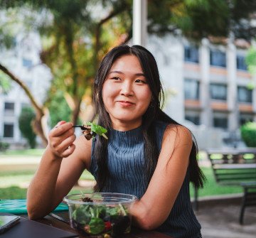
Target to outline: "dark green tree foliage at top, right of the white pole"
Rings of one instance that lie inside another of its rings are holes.
[[[255,12],[255,1],[223,0],[151,0],[149,1],[149,33],[163,35],[180,29],[192,40],[203,37],[227,37],[250,40],[256,28],[249,21]]]

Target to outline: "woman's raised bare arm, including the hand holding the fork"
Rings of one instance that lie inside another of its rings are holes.
[[[30,219],[44,217],[52,211],[87,168],[92,142],[84,136],[75,140],[72,126],[65,123],[50,131],[48,146],[28,187]]]

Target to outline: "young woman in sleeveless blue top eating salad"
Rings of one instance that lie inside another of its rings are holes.
[[[139,200],[131,209],[134,225],[172,237],[201,237],[193,213],[189,182],[203,187],[191,132],[160,107],[156,61],[139,45],[119,45],[100,64],[94,83],[98,124],[108,132],[75,139],[73,124],[60,121],[28,188],[28,215],[52,211],[89,170],[95,191],[127,193]]]

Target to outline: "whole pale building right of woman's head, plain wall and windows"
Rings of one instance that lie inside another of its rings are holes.
[[[256,81],[245,64],[249,47],[245,40],[203,39],[196,45],[182,36],[149,38],[163,84],[176,92],[164,109],[183,124],[197,125],[196,131],[201,127],[202,148],[223,146],[225,137],[256,119],[256,89],[248,87]]]

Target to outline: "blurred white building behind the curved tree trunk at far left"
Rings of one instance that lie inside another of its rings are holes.
[[[25,82],[38,103],[42,104],[50,86],[51,75],[50,70],[41,64],[38,56],[40,50],[38,34],[19,34],[12,50],[0,51],[0,62]],[[16,146],[26,142],[18,129],[18,117],[22,107],[29,104],[25,92],[14,81],[11,81],[11,91],[8,94],[0,93],[0,141]]]

